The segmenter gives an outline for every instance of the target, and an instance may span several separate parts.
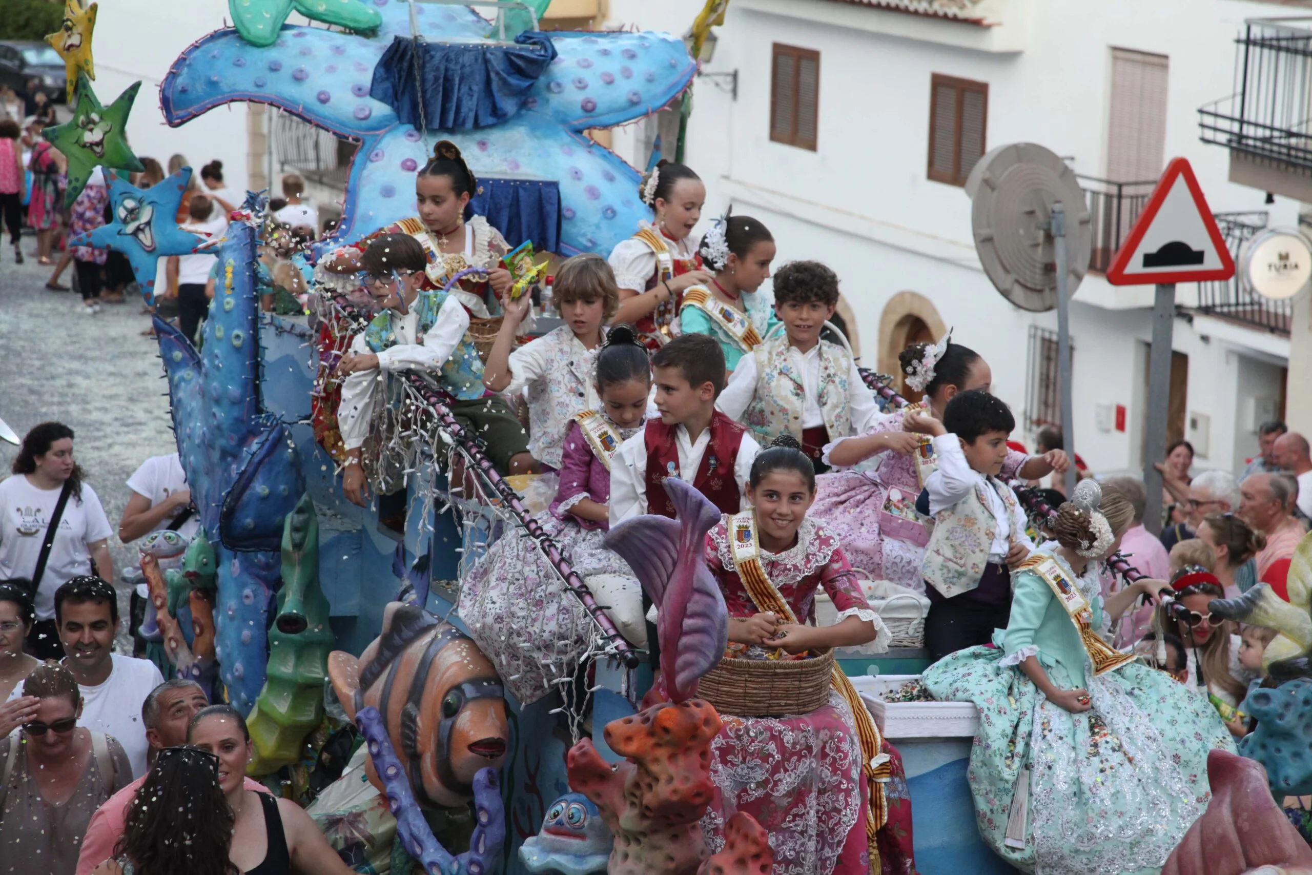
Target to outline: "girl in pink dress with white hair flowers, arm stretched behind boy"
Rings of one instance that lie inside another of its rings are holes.
[[[988,362],[968,346],[954,344],[951,332],[938,344],[913,344],[899,356],[907,386],[924,392],[913,405],[929,408],[938,417],[958,392],[988,391],[993,373]],[[908,408],[911,409],[911,408]],[[816,502],[811,516],[842,540],[857,575],[865,580],[888,580],[925,592],[920,563],[925,558],[929,530],[914,512],[922,488],[924,459],[917,462],[921,436],[904,429],[907,411],[895,411],[863,434],[840,438],[824,447],[830,474],[816,478]],[[932,462],[930,462],[932,464]],[[1002,466],[1002,480],[1034,480],[1052,471],[1065,471],[1065,453],[1027,457],[1013,450]]]

